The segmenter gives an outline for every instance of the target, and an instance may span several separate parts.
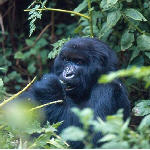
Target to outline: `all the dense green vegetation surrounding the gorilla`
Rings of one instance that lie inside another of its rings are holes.
[[[1,0],[0,148],[68,148],[68,139],[82,140],[85,148],[92,148],[92,135],[86,138],[89,126],[94,132],[103,132],[101,141],[107,143],[102,148],[149,148],[149,16],[149,0]],[[61,45],[76,35],[98,37],[117,52],[121,70],[99,82],[122,77],[133,111],[125,123],[121,111],[103,122],[93,120],[91,110],[75,108],[84,130],[69,127],[58,136],[60,123],[41,126],[44,114],[39,115],[40,108],[7,108],[3,100],[20,91],[35,75],[48,72]],[[32,134],[39,136],[32,138]]]

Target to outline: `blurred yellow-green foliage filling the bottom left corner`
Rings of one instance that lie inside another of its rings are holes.
[[[0,114],[0,148],[67,148],[68,145],[56,135],[61,124],[42,125],[42,112],[31,112],[33,106],[11,104]],[[33,134],[37,136],[33,138]]]

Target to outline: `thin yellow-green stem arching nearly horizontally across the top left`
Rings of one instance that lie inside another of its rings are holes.
[[[86,19],[90,19],[88,16],[86,15],[83,15],[81,13],[78,13],[78,12],[75,12],[75,11],[70,11],[70,10],[63,10],[63,9],[54,9],[54,8],[41,8],[41,9],[36,9],[38,11],[58,11],[58,12],[64,12],[64,13],[69,13],[69,14],[74,14],[74,15],[77,15],[77,16],[81,16],[83,18],[86,18]],[[25,9],[24,11],[32,11],[32,9]]]

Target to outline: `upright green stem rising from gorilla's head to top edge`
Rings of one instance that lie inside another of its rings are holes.
[[[91,0],[87,0],[87,1],[88,1],[90,33],[91,33],[91,37],[94,37],[94,33],[93,33],[93,20],[92,20],[92,9],[91,9]]]

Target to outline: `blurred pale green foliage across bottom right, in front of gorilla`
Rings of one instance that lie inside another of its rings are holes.
[[[103,133],[103,138],[99,142],[104,142],[104,144],[99,148],[128,149],[149,148],[150,146],[150,115],[143,119],[136,131],[133,131],[128,127],[129,120],[126,122],[123,121],[121,110],[118,111],[116,115],[108,116],[106,121],[102,121],[100,118],[98,118],[98,120],[93,120],[91,109],[79,110],[75,108],[73,112],[75,112],[80,118],[80,121],[83,124],[83,129],[76,127],[68,127],[64,129],[62,137],[65,140],[83,141],[85,143],[84,148],[92,148],[90,140],[92,140],[95,133],[101,131]],[[94,130],[93,135],[88,133],[90,127]]]

